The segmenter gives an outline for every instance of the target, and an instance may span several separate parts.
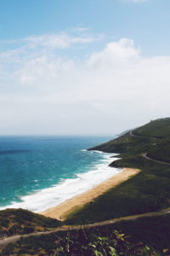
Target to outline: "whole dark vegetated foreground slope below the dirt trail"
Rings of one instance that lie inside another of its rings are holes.
[[[115,230],[121,231],[118,233]],[[120,235],[122,233],[126,236]],[[85,230],[60,231],[39,237],[31,236],[8,245],[2,250],[1,255],[54,255],[57,253],[56,255],[90,256],[95,255],[92,249],[101,252],[102,247],[108,250],[109,246],[116,248],[116,255],[169,255],[170,250],[165,250],[169,248],[169,243],[170,214],[167,214],[162,217],[122,221]],[[155,250],[157,254],[153,253]]]

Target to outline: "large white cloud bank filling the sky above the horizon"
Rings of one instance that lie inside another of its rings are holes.
[[[4,134],[114,134],[169,115],[170,56],[144,57],[122,38],[75,61],[59,57],[50,37],[38,38],[36,51],[29,39],[0,54]]]

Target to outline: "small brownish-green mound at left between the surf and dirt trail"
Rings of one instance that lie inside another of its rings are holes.
[[[60,222],[23,209],[0,211],[0,236],[14,236],[59,227]]]

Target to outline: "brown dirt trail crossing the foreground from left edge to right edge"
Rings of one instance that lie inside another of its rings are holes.
[[[26,235],[9,236],[7,238],[4,238],[4,239],[0,240],[0,247],[5,247],[11,242],[15,242],[15,241],[20,240],[20,238],[26,238],[26,237],[29,237],[29,236],[48,235],[48,234],[56,233],[56,232],[59,232],[59,231],[82,230],[82,229],[85,229],[85,228],[111,225],[111,224],[116,224],[116,223],[121,222],[121,221],[135,220],[135,219],[138,219],[138,218],[163,216],[163,215],[168,214],[168,213],[170,213],[170,207],[167,208],[167,209],[164,209],[160,212],[147,212],[147,213],[127,216],[127,217],[122,217],[122,218],[113,218],[111,220],[105,220],[105,221],[94,223],[94,224],[66,226],[66,227],[60,227],[60,228],[57,228],[57,229],[54,229],[54,230],[49,230],[49,231],[31,233],[31,234],[26,234]]]

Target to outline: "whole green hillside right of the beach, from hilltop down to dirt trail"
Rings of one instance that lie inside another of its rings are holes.
[[[143,153],[150,152],[159,159],[162,149],[165,149],[167,160],[170,160],[169,125],[170,119],[156,120],[135,129],[133,133],[138,131],[139,137],[132,137],[127,133],[109,143],[91,148],[120,153],[122,160],[113,162],[111,166],[137,167],[141,168],[142,172],[99,196],[93,204],[87,204],[77,212],[73,212],[66,223],[88,224],[170,207],[170,166],[145,160],[142,157]]]

